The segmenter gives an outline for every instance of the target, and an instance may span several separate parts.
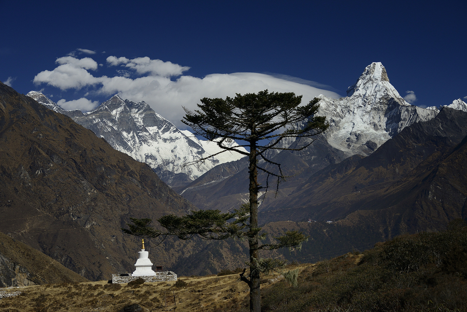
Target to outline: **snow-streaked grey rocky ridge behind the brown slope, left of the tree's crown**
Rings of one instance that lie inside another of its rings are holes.
[[[171,186],[190,183],[220,163],[241,158],[239,153],[226,151],[194,163],[221,149],[213,142],[198,140],[190,131],[180,131],[144,101],[133,102],[114,95],[93,110],[82,113],[80,110],[65,111],[40,92],[31,91],[27,95],[92,130],[114,149],[149,164]]]

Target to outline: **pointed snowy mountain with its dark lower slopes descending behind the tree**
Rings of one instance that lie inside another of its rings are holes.
[[[328,132],[307,149],[284,150],[272,159],[282,164],[285,175],[293,176],[281,185],[279,198],[293,192],[318,170],[349,156],[368,156],[403,128],[431,120],[439,112],[407,103],[389,83],[381,63],[368,65],[356,83],[348,88],[347,97],[320,98],[317,114],[326,116],[330,124]],[[303,146],[309,140],[290,140],[286,146]],[[260,173],[258,179],[263,186],[266,184],[265,175]],[[247,182],[245,165],[220,164],[177,191],[199,208],[228,210],[248,198]],[[269,197],[268,202],[274,201],[273,198]]]

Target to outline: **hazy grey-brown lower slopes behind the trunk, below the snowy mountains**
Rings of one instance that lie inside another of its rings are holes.
[[[290,145],[290,148],[303,146],[304,140],[297,140]],[[272,157],[272,161],[282,164],[285,175],[291,176],[287,182],[281,184],[278,197],[287,196],[294,191],[298,185],[306,181],[311,174],[325,168],[329,164],[339,163],[345,159],[345,153],[333,148],[329,143],[320,138],[313,145],[302,151],[290,152],[282,151]],[[184,198],[190,200],[200,209],[219,209],[226,211],[238,206],[248,200],[248,168],[246,161],[238,160],[231,163],[220,164],[203,176],[199,177],[188,185],[180,193]],[[243,168],[242,168],[243,166]],[[276,167],[266,166],[269,170],[277,171]],[[258,173],[258,182],[263,187],[266,186],[268,177],[263,172]],[[269,177],[270,195],[267,200],[274,198],[275,179]],[[260,200],[263,198],[260,195]]]

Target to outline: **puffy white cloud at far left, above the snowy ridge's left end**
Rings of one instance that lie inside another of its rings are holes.
[[[61,90],[81,89],[87,85],[96,85],[100,78],[92,76],[87,70],[96,70],[97,63],[90,57],[60,57],[56,63],[60,64],[53,71],[41,71],[33,82],[36,85],[46,83]]]

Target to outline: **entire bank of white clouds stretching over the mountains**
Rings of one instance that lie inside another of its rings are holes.
[[[94,77],[90,71],[96,71],[98,64],[90,57],[60,57],[57,68],[41,71],[34,78],[36,85],[48,84],[61,90],[94,88],[93,94],[111,96],[115,93],[124,99],[145,101],[157,113],[177,126],[184,116],[182,106],[190,110],[197,108],[199,99],[234,97],[235,93],[253,93],[268,89],[270,92],[295,92],[303,95],[302,103],[324,94],[339,98],[339,94],[316,87],[276,78],[271,75],[254,72],[232,74],[210,74],[204,78],[184,75],[190,67],[171,62],[164,62],[149,57],[107,57],[107,68],[115,69],[117,76]],[[172,80],[172,78],[177,78]],[[83,100],[80,103],[66,102],[68,109],[85,109],[89,106]],[[64,101],[65,102],[65,101]],[[76,107],[73,105],[76,104]],[[81,105],[78,105],[81,104]]]

